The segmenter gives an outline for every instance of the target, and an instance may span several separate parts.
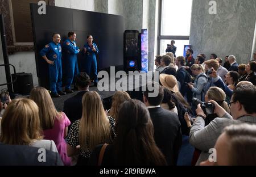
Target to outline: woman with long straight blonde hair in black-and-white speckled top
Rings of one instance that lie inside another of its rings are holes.
[[[115,120],[106,116],[100,95],[96,91],[86,92],[82,97],[82,117],[68,133],[68,156],[79,154],[77,165],[87,165],[94,147],[113,142],[114,128]]]

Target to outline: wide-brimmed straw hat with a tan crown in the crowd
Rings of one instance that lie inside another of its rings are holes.
[[[174,75],[160,74],[159,79],[164,87],[167,87],[169,90],[175,93],[179,91],[177,79],[174,77]]]

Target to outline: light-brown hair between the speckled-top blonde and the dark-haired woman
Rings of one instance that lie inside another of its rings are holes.
[[[117,113],[120,109],[120,106],[126,100],[130,100],[130,95],[126,91],[117,91],[112,97],[112,107],[110,108],[109,116],[114,119],[117,118]]]

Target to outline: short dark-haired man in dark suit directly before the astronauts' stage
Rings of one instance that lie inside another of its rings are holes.
[[[89,91],[90,77],[86,73],[79,73],[75,80],[75,85],[79,89],[79,92],[65,100],[63,112],[67,115],[71,124],[82,117],[82,96]]]

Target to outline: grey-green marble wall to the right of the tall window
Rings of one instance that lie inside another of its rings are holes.
[[[248,62],[253,46],[256,1],[216,0],[217,14],[210,15],[209,1],[193,0],[190,44],[198,53],[234,54]]]

